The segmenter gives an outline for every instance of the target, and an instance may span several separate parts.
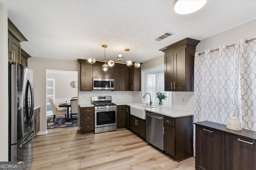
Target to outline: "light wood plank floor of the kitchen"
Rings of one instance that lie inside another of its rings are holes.
[[[76,127],[49,129],[34,139],[32,170],[194,170],[194,157],[176,162],[127,129],[80,134]]]

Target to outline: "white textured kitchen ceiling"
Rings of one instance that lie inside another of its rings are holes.
[[[0,0],[28,42],[32,57],[145,62],[185,37],[205,39],[256,19],[255,0],[208,0],[192,14],[174,12],[174,0]],[[169,31],[174,35],[155,41]],[[130,51],[124,51],[130,48]]]

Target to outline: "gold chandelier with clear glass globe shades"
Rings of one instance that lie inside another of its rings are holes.
[[[106,71],[106,70],[108,70],[108,66],[111,66],[111,67],[112,67],[112,66],[114,66],[115,63],[118,63],[118,62],[114,62],[113,60],[110,60],[110,61],[108,61],[108,64],[106,64],[106,51],[105,51],[105,49],[106,49],[106,47],[108,47],[108,45],[103,44],[102,47],[104,47],[104,61],[99,61],[99,60],[96,60],[94,57],[90,57],[90,58],[88,59],[88,62],[89,62],[90,64],[94,64],[96,61],[104,62],[104,64],[102,65],[102,70],[103,70],[103,71]],[[124,49],[124,51],[130,51],[130,49]],[[134,65],[135,68],[139,68],[139,67],[140,67],[140,63],[135,62],[135,63],[133,64],[131,60],[127,60],[126,63],[121,63],[121,61],[123,60],[123,57],[122,57],[121,54],[119,54],[119,55],[117,56],[117,60],[119,61],[120,64],[126,64],[126,66],[132,66],[132,65]]]

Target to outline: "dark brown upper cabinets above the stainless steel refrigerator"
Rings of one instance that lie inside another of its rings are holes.
[[[27,61],[23,58],[20,42],[28,41],[14,23],[8,18],[8,58],[10,62],[17,62],[27,66]]]

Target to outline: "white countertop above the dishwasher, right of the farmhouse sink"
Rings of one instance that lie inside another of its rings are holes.
[[[144,110],[150,111],[150,112],[153,112],[153,113],[158,113],[160,115],[174,117],[174,118],[175,117],[183,117],[183,116],[194,115],[193,112],[170,109],[170,108],[167,108],[167,107],[158,107],[158,106],[156,106],[155,108],[147,108],[147,109],[144,109]]]

